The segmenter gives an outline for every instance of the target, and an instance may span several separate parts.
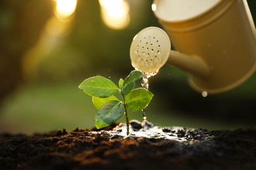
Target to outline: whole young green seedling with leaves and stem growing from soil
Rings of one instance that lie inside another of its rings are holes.
[[[154,96],[146,88],[135,88],[137,80],[144,76],[140,71],[131,71],[129,76],[119,80],[119,88],[103,76],[93,76],[85,79],[79,89],[92,96],[93,104],[98,111],[95,116],[95,126],[100,129],[116,122],[125,114],[127,135],[129,135],[129,118],[127,109],[140,111],[150,103]],[[115,94],[121,95],[119,100]]]

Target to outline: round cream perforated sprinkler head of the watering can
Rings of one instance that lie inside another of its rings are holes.
[[[170,50],[171,41],[163,29],[146,27],[131,42],[131,64],[142,73],[157,73],[169,58]]]

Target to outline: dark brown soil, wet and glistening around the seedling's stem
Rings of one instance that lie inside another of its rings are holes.
[[[104,129],[0,135],[0,169],[256,169],[256,129],[207,131],[131,121]]]

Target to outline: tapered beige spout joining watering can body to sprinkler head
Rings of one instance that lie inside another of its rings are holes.
[[[210,75],[209,66],[198,56],[190,56],[171,50],[167,63],[201,78],[207,78]]]

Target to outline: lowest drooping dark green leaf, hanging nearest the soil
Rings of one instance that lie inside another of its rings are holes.
[[[95,116],[95,126],[100,129],[102,127],[109,126],[116,122],[123,113],[125,108],[121,101],[107,101],[98,111]]]

